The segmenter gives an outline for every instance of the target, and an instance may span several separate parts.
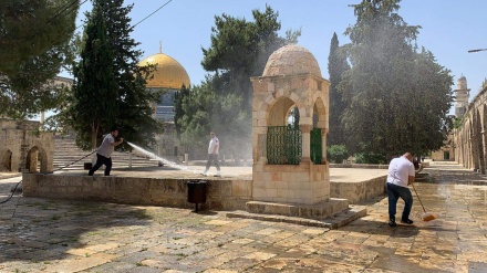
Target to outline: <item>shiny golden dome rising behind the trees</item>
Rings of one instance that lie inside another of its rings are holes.
[[[189,76],[186,70],[173,57],[157,53],[142,60],[138,65],[156,64],[154,77],[147,80],[147,87],[180,90],[183,84],[189,87]]]

